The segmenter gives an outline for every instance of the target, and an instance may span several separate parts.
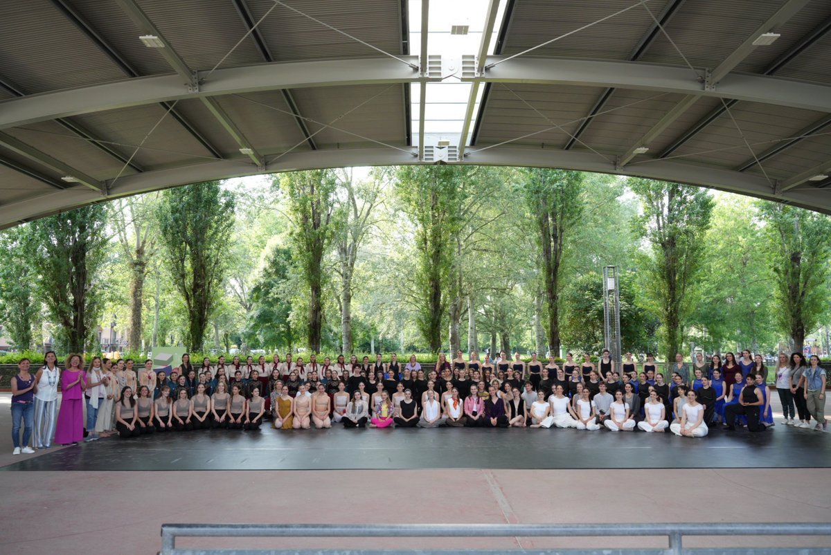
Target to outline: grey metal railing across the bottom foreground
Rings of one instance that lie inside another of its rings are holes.
[[[382,550],[347,548],[303,549],[213,549],[175,548],[176,538],[563,538],[563,537],[666,537],[666,549],[656,548],[587,548],[587,549],[401,549]],[[824,548],[720,548],[682,547],[684,536],[829,536]],[[162,524],[160,555],[380,555],[381,553],[603,553],[604,555],[684,553],[741,553],[763,555],[799,553],[829,555],[831,524],[829,523],[652,523],[652,524]]]

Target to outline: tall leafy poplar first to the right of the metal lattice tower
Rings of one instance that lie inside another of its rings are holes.
[[[631,178],[628,185],[642,202],[642,216],[632,220],[652,252],[643,257],[642,282],[661,317],[664,354],[671,361],[681,351],[681,326],[694,306],[691,292],[704,259],[713,201],[699,187],[642,178]]]

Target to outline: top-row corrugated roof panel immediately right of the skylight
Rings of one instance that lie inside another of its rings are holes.
[[[634,3],[634,2],[632,2]],[[667,2],[649,2],[657,16]],[[506,56],[536,47],[543,42],[619,12],[627,3],[614,0],[523,0],[514,6],[502,53]],[[643,7],[635,7],[604,22],[563,37],[529,56],[571,56],[626,60],[653,21]],[[614,37],[614,40],[609,40]]]

